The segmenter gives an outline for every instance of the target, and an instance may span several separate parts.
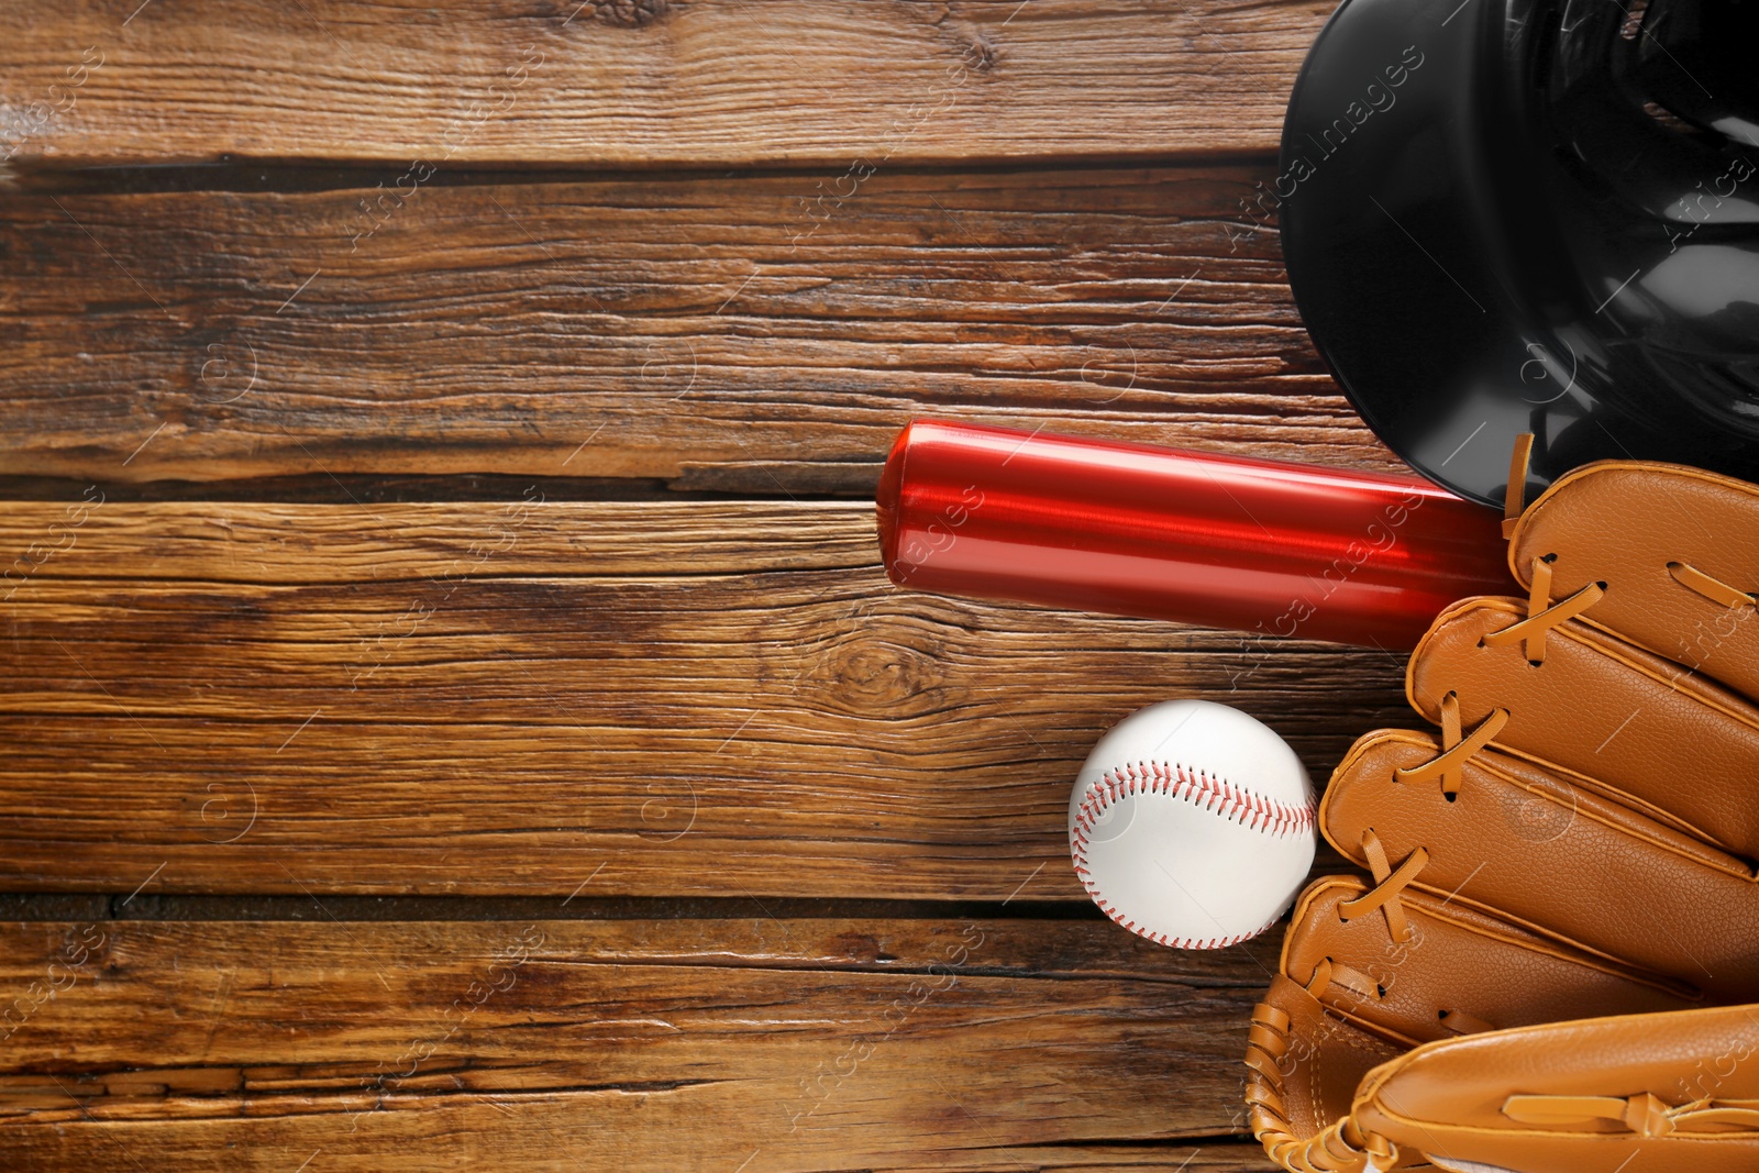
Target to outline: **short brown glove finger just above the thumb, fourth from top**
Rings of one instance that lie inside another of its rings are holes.
[[[1402,1046],[1581,1015],[1641,1015],[1699,1004],[1690,990],[1636,974],[1449,897],[1411,890],[1404,932],[1383,914],[1347,916],[1356,876],[1314,881],[1282,939],[1282,973],[1328,1013]]]

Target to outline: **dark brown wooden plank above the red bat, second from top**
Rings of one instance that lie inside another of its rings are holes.
[[[1268,174],[454,186],[382,218],[359,190],[18,197],[0,470],[864,491],[915,415],[1402,468],[1242,209]]]

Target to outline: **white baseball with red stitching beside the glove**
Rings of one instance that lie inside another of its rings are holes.
[[[1099,739],[1069,797],[1075,874],[1105,914],[1180,950],[1256,937],[1314,862],[1314,790],[1238,709],[1170,700]]]

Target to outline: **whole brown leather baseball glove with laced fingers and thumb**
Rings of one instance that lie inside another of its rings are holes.
[[[1411,656],[1441,735],[1332,776],[1372,879],[1295,904],[1252,1131],[1298,1171],[1759,1169],[1759,487],[1592,464],[1506,531],[1529,598]]]

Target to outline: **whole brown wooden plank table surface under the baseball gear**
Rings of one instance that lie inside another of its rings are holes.
[[[1388,654],[894,589],[916,415],[1398,468],[1249,215],[1316,0],[0,9],[0,1166],[1261,1169],[1120,716]]]

